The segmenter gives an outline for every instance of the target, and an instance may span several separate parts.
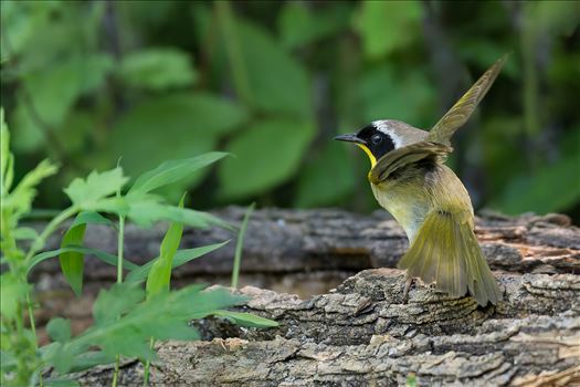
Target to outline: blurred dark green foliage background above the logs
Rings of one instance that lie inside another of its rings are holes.
[[[454,138],[476,209],[580,221],[578,1],[2,1],[1,97],[22,175],[138,172],[226,150],[188,185],[229,203],[378,208],[367,157],[331,142],[379,118],[429,128],[509,62]]]

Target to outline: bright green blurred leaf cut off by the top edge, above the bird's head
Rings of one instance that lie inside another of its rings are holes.
[[[354,22],[368,59],[376,60],[407,48],[420,36],[421,2],[366,0],[359,4],[360,12]]]

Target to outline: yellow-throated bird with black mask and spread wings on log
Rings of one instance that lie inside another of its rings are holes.
[[[498,59],[430,129],[396,119],[370,123],[335,137],[358,145],[369,157],[368,180],[379,205],[403,228],[409,249],[399,260],[405,270],[404,295],[413,279],[481,306],[496,305],[502,292],[474,232],[470,194],[444,163],[451,138],[483,100],[507,54]]]

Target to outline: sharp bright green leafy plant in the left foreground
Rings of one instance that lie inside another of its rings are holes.
[[[245,297],[224,289],[205,290],[203,285],[190,285],[171,291],[173,268],[221,248],[228,241],[212,245],[179,250],[183,226],[197,228],[232,226],[212,215],[184,208],[184,195],[179,206],[169,205],[155,194],[170,184],[186,179],[199,168],[225,157],[223,153],[210,153],[198,157],[170,160],[139,176],[124,194],[129,181],[120,167],[97,172],[86,179],[76,178],[64,192],[71,206],[56,215],[36,233],[19,226],[22,216],[32,209],[38,184],[56,172],[50,161],[42,161],[12,188],[14,157],[10,153],[10,134],[1,115],[1,248],[2,264],[9,270],[1,274],[1,373],[2,385],[29,386],[72,383],[66,375],[98,364],[116,363],[113,385],[116,386],[120,356],[137,357],[146,363],[147,384],[149,362],[156,358],[156,339],[197,339],[198,332],[189,326],[194,318],[218,315],[244,326],[267,327],[276,323],[245,313],[225,308],[243,303]],[[118,219],[117,255],[83,247],[87,224],[114,223],[104,215]],[[75,217],[64,233],[60,249],[44,251],[48,238],[67,219]],[[124,222],[133,220],[149,226],[161,220],[171,224],[161,242],[159,257],[138,266],[124,259]],[[244,222],[242,229],[245,229]],[[27,240],[24,248],[20,240]],[[243,237],[242,237],[243,239]],[[117,283],[102,290],[93,305],[94,325],[80,335],[72,335],[71,322],[53,318],[46,331],[53,342],[38,347],[32,303],[32,284],[29,273],[40,262],[59,257],[64,278],[76,294],[82,293],[85,255],[114,264]],[[124,271],[129,274],[124,279]],[[124,281],[126,280],[126,281]],[[144,287],[144,281],[145,287]],[[28,310],[30,327],[24,324]],[[52,373],[49,373],[53,369]],[[43,377],[48,379],[43,380]],[[74,383],[72,383],[74,384]]]

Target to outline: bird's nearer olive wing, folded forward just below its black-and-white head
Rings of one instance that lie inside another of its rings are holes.
[[[369,180],[379,184],[399,168],[428,158],[440,159],[452,151],[452,147],[432,142],[403,146],[382,156],[370,170]]]

